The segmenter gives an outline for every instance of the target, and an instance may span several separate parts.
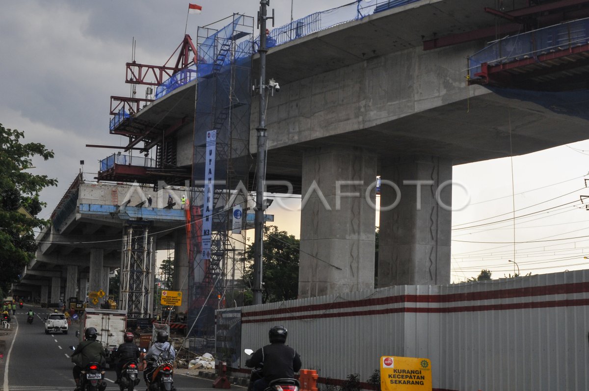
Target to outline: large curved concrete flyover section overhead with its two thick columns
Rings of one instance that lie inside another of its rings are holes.
[[[507,23],[484,12],[494,0],[421,0],[342,23],[269,49],[266,75],[280,83],[267,103],[267,179],[314,193],[303,204],[302,297],[373,284],[376,175],[405,197],[380,212],[379,286],[449,283],[452,165],[544,150],[587,138],[587,121],[529,101],[468,86],[466,57],[485,41],[423,51],[423,41]],[[514,9],[529,6],[512,2]],[[259,57],[253,57],[254,72]],[[171,92],[138,118],[172,126],[190,117],[196,83]],[[250,153],[257,150],[252,99]],[[193,140],[208,129],[184,125],[178,165],[190,167]],[[415,184],[428,181],[416,203]],[[341,184],[349,203],[339,203]],[[396,199],[385,187],[383,199]],[[320,193],[320,196],[319,196]],[[366,194],[366,196],[365,196]],[[337,207],[342,208],[339,213]],[[384,274],[383,274],[384,273]],[[385,276],[385,277],[383,277]],[[382,277],[382,278],[381,278]]]

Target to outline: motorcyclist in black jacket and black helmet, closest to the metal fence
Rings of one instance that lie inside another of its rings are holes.
[[[283,326],[274,326],[268,336],[270,344],[254,352],[246,361],[250,368],[263,364],[262,379],[254,382],[254,391],[263,391],[272,380],[294,377],[294,372],[299,372],[301,362],[299,353],[292,347],[284,344],[288,331]]]

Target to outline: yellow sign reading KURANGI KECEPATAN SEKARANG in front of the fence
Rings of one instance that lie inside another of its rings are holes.
[[[415,357],[380,357],[383,391],[432,391],[432,363]]]

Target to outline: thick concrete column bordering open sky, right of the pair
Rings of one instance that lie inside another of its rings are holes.
[[[396,158],[382,163],[380,178],[378,287],[449,284],[452,185],[447,181],[452,180],[452,161]],[[399,195],[386,180],[398,185],[401,197],[389,211],[382,209]],[[406,181],[429,183],[420,188]]]

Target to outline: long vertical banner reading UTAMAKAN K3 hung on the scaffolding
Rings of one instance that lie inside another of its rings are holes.
[[[207,132],[207,151],[204,162],[203,243],[202,259],[211,259],[211,228],[213,227],[213,196],[217,131]]]

